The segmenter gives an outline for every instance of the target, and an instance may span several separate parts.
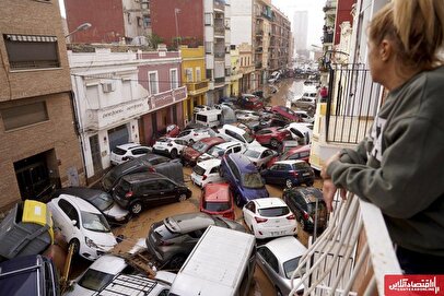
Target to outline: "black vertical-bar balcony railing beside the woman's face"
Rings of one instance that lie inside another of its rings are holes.
[[[327,64],[326,141],[357,144],[369,132],[379,104],[381,85],[363,64]]]

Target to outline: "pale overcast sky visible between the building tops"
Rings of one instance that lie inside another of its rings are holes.
[[[282,11],[292,23],[295,11],[308,11],[307,49],[311,49],[312,44],[322,46],[325,2],[326,0],[271,0],[271,3]]]

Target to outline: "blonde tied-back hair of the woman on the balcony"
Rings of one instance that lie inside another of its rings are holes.
[[[443,63],[444,0],[393,0],[370,23],[370,38],[394,43],[402,66],[430,70]]]

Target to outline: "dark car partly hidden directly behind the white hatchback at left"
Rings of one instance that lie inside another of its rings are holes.
[[[129,220],[129,212],[114,202],[113,197],[105,191],[85,187],[66,187],[55,190],[51,199],[58,198],[60,194],[74,196],[87,201],[97,208],[112,225],[120,225]]]

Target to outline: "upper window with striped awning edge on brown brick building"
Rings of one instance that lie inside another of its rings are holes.
[[[59,68],[57,37],[3,35],[12,70]]]

